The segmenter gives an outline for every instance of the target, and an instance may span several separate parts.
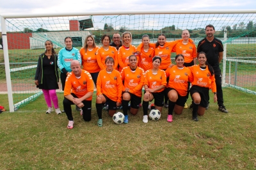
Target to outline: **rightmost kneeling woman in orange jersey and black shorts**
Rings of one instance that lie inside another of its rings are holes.
[[[214,70],[207,62],[206,54],[199,52],[198,54],[199,65],[189,66],[193,74],[192,87],[190,95],[193,99],[193,120],[198,121],[197,114],[204,115],[205,108],[209,101],[209,88],[214,93],[214,102],[217,102],[216,83],[214,77]]]

